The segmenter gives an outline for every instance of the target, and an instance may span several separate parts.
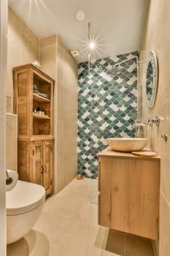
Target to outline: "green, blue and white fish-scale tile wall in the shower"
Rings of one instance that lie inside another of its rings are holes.
[[[79,64],[78,169],[87,178],[98,176],[99,151],[106,138],[134,137],[137,116],[137,52]],[[127,61],[125,61],[127,60]],[[120,61],[120,68],[113,66]]]

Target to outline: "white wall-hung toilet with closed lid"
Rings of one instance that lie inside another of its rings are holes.
[[[26,181],[6,193],[7,244],[25,236],[34,227],[45,203],[45,188]]]

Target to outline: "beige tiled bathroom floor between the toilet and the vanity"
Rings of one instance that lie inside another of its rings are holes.
[[[154,256],[150,240],[97,224],[97,181],[71,182],[45,203],[27,236],[7,256]]]

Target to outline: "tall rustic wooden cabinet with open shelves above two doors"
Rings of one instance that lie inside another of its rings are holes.
[[[13,68],[18,115],[18,175],[53,193],[54,80],[33,64]]]

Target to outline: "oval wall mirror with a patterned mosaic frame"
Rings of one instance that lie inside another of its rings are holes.
[[[158,85],[158,64],[156,54],[153,50],[148,53],[146,66],[146,99],[147,106],[152,108],[155,102]]]

